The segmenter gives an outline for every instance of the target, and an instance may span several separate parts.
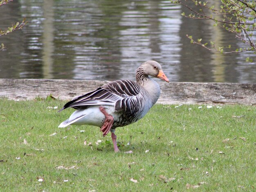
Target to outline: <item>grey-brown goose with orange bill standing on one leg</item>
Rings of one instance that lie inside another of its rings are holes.
[[[67,102],[59,112],[69,107],[76,111],[58,127],[97,126],[101,128],[103,137],[110,131],[114,151],[118,152],[115,128],[127,126],[144,117],[160,96],[159,84],[149,76],[169,82],[158,62],[144,62],[137,68],[136,82],[128,79],[109,82]]]

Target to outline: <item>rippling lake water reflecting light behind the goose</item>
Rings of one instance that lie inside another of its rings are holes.
[[[215,2],[215,1],[211,1]],[[217,46],[243,44],[209,20],[191,20],[168,0],[18,0],[0,7],[0,78],[135,79],[155,60],[171,82],[256,82],[253,53],[220,55],[190,44],[186,34]]]

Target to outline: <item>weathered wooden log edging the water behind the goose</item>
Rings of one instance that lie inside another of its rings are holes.
[[[107,81],[63,79],[0,79],[0,97],[29,100],[48,95],[70,100],[106,84]],[[256,84],[159,82],[163,104],[256,105]]]

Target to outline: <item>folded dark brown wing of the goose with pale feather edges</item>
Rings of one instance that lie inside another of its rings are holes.
[[[110,105],[115,106],[118,111],[128,110],[130,109],[130,99],[133,101],[134,97],[139,95],[140,90],[141,87],[131,80],[123,79],[109,82],[92,92],[67,102],[61,110],[68,107],[75,109],[88,108],[92,105]]]

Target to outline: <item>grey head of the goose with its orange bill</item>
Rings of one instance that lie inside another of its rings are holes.
[[[156,61],[147,61],[141,64],[141,68],[143,68],[144,73],[146,75],[150,75],[152,77],[157,77],[159,79],[162,79],[166,82],[169,82],[169,79],[164,74],[161,65]]]

